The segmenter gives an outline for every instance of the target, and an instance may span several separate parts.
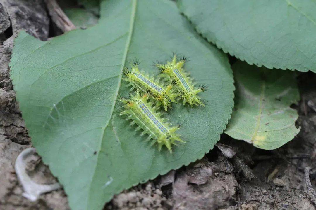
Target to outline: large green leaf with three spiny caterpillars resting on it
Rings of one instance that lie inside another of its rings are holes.
[[[118,94],[128,94],[120,72],[134,58],[158,73],[155,60],[172,52],[189,57],[185,68],[208,105],[180,103],[166,118],[185,144],[158,152],[129,126]],[[200,38],[168,0],[102,1],[95,26],[47,42],[25,32],[15,39],[11,78],[33,145],[69,196],[72,209],[101,209],[114,193],[187,165],[220,139],[233,106],[228,58]]]

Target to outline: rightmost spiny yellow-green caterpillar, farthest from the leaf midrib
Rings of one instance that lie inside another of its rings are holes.
[[[183,99],[183,105],[189,103],[191,107],[193,105],[204,106],[203,101],[200,100],[201,98],[197,94],[204,91],[207,86],[200,85],[197,89],[194,88],[194,84],[191,81],[189,74],[182,68],[186,60],[185,57],[177,60],[176,54],[174,54],[171,62],[168,61],[167,64],[160,64],[158,62],[156,66],[161,73],[165,73],[170,78],[176,78],[179,81],[176,86],[179,91],[179,97]]]

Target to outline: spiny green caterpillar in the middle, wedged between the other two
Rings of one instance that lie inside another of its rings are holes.
[[[124,80],[130,82],[130,85],[134,86],[134,88],[138,88],[145,93],[150,93],[157,100],[157,105],[162,105],[165,111],[167,111],[168,107],[172,109],[171,102],[176,102],[176,98],[178,97],[178,94],[173,92],[173,87],[178,81],[170,79],[167,87],[164,87],[158,81],[154,81],[153,78],[149,78],[147,75],[141,73],[138,65],[139,61],[135,59],[130,69],[125,67],[123,71],[125,75]]]

